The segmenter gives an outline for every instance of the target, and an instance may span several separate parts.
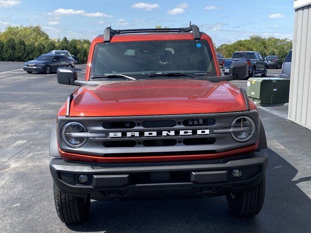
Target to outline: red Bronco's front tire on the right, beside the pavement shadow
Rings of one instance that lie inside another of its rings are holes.
[[[256,187],[227,194],[227,201],[234,215],[250,217],[259,214],[263,205],[264,194],[265,178],[263,177],[262,181]]]

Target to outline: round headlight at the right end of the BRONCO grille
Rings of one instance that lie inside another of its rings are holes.
[[[249,141],[254,136],[255,130],[255,123],[248,116],[240,116],[231,124],[231,136],[238,142]]]

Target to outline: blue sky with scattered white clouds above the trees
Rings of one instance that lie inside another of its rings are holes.
[[[185,27],[217,46],[252,34],[293,38],[294,0],[0,0],[0,31],[39,24],[51,38],[93,39],[105,27]]]

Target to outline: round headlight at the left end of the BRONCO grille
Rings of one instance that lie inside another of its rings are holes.
[[[86,137],[83,134],[86,133],[86,127],[79,122],[69,122],[64,125],[62,129],[62,138],[67,146],[71,148],[82,147],[86,143]]]

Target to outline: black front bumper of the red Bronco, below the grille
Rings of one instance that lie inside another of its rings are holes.
[[[267,169],[268,157],[252,155],[214,161],[78,164],[52,159],[50,170],[63,193],[94,200],[221,196],[232,190],[257,186]],[[234,178],[233,169],[242,177]],[[79,175],[88,177],[81,184]]]

